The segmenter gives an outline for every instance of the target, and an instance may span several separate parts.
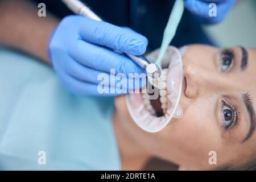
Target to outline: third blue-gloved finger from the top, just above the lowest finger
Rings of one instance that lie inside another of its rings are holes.
[[[122,82],[123,89],[140,88],[146,84],[146,75],[144,77],[127,77],[124,74],[117,76],[106,72],[100,72],[92,68],[77,63],[76,60],[70,56],[63,57],[62,61],[58,61],[56,65],[62,67],[68,75],[76,78],[77,80],[89,82],[92,84],[104,84],[110,87],[115,87],[118,83]]]

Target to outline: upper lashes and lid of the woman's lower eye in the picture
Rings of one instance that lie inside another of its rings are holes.
[[[224,106],[229,107],[232,110],[231,124],[228,127],[224,126],[225,131],[229,131],[229,130],[232,129],[233,126],[235,126],[238,123],[238,121],[240,121],[240,112],[238,111],[237,106],[232,104],[232,102],[228,102],[228,101],[223,100],[222,101],[222,108]],[[224,111],[224,110],[222,109],[222,111]],[[223,117],[223,119],[224,119],[224,117]]]

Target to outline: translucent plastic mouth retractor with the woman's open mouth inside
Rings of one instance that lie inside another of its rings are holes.
[[[150,53],[148,59],[156,60],[158,50]],[[172,118],[180,118],[183,110],[179,106],[183,88],[182,51],[168,47],[162,64],[162,75],[150,80],[140,93],[126,95],[126,105],[131,118],[141,129],[150,133],[162,130]],[[154,86],[156,87],[154,88]]]

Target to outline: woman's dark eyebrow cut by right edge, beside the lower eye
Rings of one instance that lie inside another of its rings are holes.
[[[243,102],[245,103],[245,106],[246,106],[246,110],[249,114],[250,123],[251,123],[250,130],[249,130],[247,136],[245,137],[245,139],[242,140],[242,143],[243,143],[247,139],[249,139],[251,137],[251,135],[253,135],[253,132],[255,130],[256,117],[255,117],[255,110],[253,107],[253,102],[251,101],[249,93],[243,94],[242,97],[243,97]]]

